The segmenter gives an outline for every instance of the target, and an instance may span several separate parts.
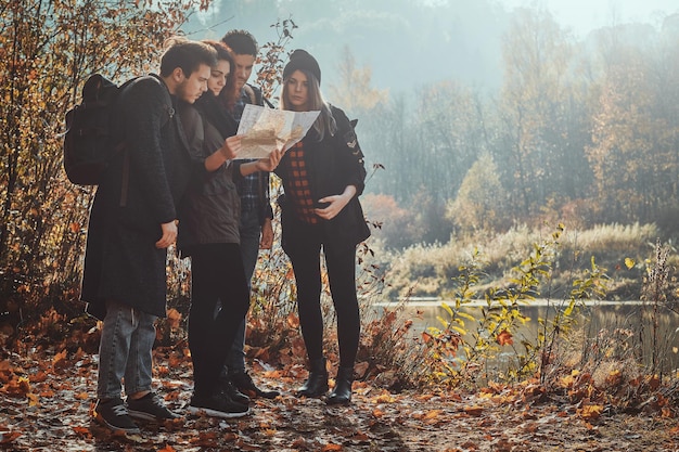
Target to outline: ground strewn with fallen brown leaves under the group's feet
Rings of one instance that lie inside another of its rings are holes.
[[[255,370],[283,396],[258,399],[253,414],[222,421],[185,413],[191,365],[177,349],[155,351],[157,391],[184,417],[140,424],[114,436],[91,419],[95,356],[81,351],[3,353],[0,450],[8,451],[676,451],[679,426],[658,413],[587,412],[530,400],[527,386],[479,393],[390,393],[355,383],[349,406],[297,399],[298,366]]]

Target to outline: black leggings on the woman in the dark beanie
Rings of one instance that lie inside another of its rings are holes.
[[[340,365],[351,367],[360,337],[360,315],[356,296],[356,247],[336,249],[323,244],[323,229],[305,228],[304,240],[286,249],[297,282],[297,308],[304,344],[309,360],[323,357],[323,317],[321,312],[321,246],[337,314]]]

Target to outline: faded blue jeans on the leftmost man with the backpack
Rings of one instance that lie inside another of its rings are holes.
[[[99,344],[97,397],[115,399],[151,390],[156,317],[116,301],[106,301]]]

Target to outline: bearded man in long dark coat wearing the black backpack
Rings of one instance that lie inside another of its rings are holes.
[[[177,237],[177,206],[191,172],[175,105],[207,90],[215,64],[212,47],[175,38],[161,75],[126,85],[116,105],[115,129],[126,146],[94,197],[81,292],[87,312],[103,320],[94,415],[116,431],[138,432],[132,417],[178,417],[152,390],[154,323],[166,314],[167,247]]]

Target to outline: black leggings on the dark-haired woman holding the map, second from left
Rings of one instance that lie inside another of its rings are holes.
[[[191,310],[189,349],[193,361],[194,390],[218,390],[219,375],[235,333],[249,308],[249,290],[240,245],[204,244],[191,255]],[[222,308],[215,317],[220,300]]]

